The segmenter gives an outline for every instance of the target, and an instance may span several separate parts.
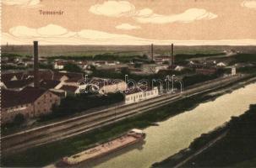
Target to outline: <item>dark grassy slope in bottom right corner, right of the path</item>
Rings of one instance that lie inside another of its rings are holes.
[[[226,137],[184,166],[233,167],[239,166],[242,162],[255,167],[256,104],[251,105],[250,109],[240,117],[231,118],[226,127],[229,129]]]

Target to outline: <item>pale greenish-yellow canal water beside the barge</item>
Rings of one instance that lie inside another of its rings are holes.
[[[144,129],[147,134],[144,144],[135,144],[124,150],[95,160],[88,166],[99,168],[144,168],[187,148],[200,134],[221,126],[248,110],[256,102],[256,84],[237,89],[212,102],[199,104],[193,110],[181,113],[159,126]],[[81,165],[84,166],[84,165]]]

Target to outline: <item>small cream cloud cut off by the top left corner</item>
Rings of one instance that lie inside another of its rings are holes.
[[[3,0],[5,5],[14,5],[20,7],[37,8],[41,7],[41,0]]]

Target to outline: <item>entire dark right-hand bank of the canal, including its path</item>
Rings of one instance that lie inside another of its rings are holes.
[[[218,167],[218,166],[255,166],[256,151],[256,104],[239,117],[209,134],[202,134],[189,145],[152,167]],[[215,144],[199,152],[212,139],[225,133]],[[216,155],[218,154],[218,155]],[[193,157],[191,157],[193,156]],[[190,160],[188,158],[190,157]],[[251,161],[250,161],[251,160]]]

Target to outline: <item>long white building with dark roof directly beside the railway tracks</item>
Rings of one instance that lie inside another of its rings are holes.
[[[134,103],[134,102],[140,102],[149,98],[157,97],[159,95],[158,88],[154,87],[153,89],[148,89],[144,91],[140,88],[135,88],[129,92],[125,93],[125,103]]]

